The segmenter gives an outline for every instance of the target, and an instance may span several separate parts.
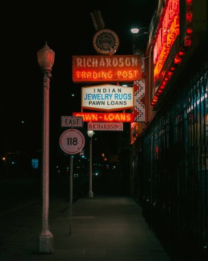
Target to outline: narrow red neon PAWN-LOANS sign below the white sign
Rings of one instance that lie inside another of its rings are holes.
[[[73,113],[83,117],[83,122],[133,122],[133,113]]]

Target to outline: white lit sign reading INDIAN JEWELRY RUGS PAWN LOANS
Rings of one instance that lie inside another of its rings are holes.
[[[103,84],[81,88],[82,109],[119,111],[133,107],[133,87]]]

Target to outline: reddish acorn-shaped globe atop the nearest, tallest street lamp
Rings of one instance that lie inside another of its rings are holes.
[[[55,52],[50,49],[47,43],[38,51],[38,64],[42,70],[51,70],[53,67]]]

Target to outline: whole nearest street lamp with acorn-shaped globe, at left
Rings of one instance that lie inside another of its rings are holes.
[[[37,240],[38,253],[53,252],[53,234],[49,231],[49,87],[55,53],[47,43],[38,51],[43,77],[42,105],[42,231]]]

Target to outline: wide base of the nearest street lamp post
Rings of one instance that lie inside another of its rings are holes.
[[[53,253],[53,235],[38,236],[36,240],[36,253]]]

